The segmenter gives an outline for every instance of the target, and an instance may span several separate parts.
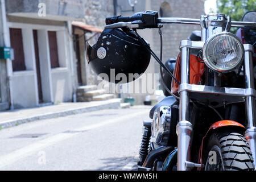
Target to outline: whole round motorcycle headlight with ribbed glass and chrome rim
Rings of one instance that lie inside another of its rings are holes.
[[[230,32],[214,34],[204,44],[204,62],[213,71],[230,72],[241,64],[244,49],[240,39]]]

